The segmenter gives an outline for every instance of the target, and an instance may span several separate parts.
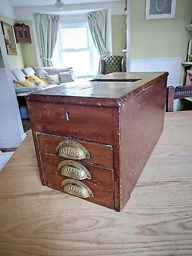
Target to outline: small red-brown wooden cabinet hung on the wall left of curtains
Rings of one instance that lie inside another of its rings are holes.
[[[31,44],[31,35],[29,26],[25,25],[24,23],[15,23],[14,25],[14,31],[15,31],[15,38],[17,44]]]

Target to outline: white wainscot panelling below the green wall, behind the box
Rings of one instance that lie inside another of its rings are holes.
[[[131,72],[169,72],[168,86],[180,86],[182,57],[131,60]]]

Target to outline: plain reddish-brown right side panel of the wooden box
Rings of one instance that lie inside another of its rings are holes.
[[[119,195],[115,198],[116,209],[124,209],[161,136],[166,84],[167,77],[164,77],[120,109],[120,188],[115,186],[117,190],[115,195]],[[116,147],[114,147],[114,155],[118,156]],[[118,157],[115,158],[115,163],[117,161]],[[114,170],[118,172],[118,168],[114,167]],[[114,180],[118,184],[118,179]]]

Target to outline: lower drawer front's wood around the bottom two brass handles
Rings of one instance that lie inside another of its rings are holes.
[[[60,173],[58,165],[61,163],[61,158],[41,153],[41,159],[45,185],[64,192],[61,183],[63,180],[70,178],[61,175]],[[113,171],[99,167],[95,164],[82,164],[90,172],[92,178],[80,181],[88,186],[93,193],[93,197],[84,199],[114,209]]]

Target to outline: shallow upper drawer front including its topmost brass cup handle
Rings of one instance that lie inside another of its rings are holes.
[[[95,163],[113,169],[113,147],[74,138],[36,133],[40,151],[60,156],[61,159]],[[60,159],[60,161],[61,161]]]

